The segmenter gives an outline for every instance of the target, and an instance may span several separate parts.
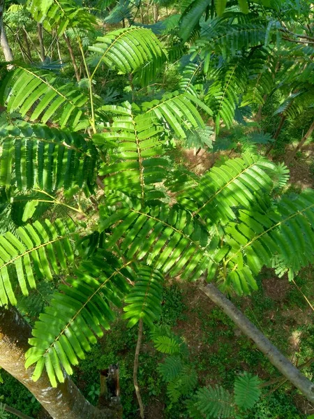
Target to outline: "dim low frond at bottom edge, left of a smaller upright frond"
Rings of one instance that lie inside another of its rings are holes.
[[[218,385],[197,390],[195,406],[206,418],[230,418],[234,413],[232,395]]]

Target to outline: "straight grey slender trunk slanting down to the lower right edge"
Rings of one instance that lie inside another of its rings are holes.
[[[314,384],[306,378],[299,369],[295,367],[285,356],[278,351],[276,346],[271,344],[265,335],[258,330],[251,321],[241,313],[237,307],[232,304],[230,300],[220,293],[214,284],[207,284],[200,286],[200,289],[209,297],[215,304],[223,309],[225,314],[244,332],[244,335],[252,339],[258,349],[269,359],[272,365],[276,367],[283,376],[285,376],[293,385],[295,385],[304,394],[306,399],[314,402]]]

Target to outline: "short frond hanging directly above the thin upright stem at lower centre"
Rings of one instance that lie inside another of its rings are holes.
[[[162,296],[163,277],[160,272],[142,267],[137,272],[135,284],[125,299],[126,313],[122,317],[130,319],[128,328],[140,321],[140,318],[153,328],[154,321],[158,321],[160,317]]]

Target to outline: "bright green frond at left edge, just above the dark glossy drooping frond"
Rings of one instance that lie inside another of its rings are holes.
[[[18,111],[30,121],[46,124],[53,119],[73,131],[89,126],[85,116],[88,97],[70,82],[50,71],[15,66],[1,81],[0,102],[8,112]]]

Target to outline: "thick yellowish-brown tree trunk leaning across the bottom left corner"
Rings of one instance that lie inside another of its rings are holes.
[[[45,372],[34,382],[33,367],[24,367],[29,337],[31,328],[22,316],[15,309],[0,307],[0,367],[24,384],[53,419],[121,418],[115,409],[100,411],[92,406],[68,376],[57,388],[52,388]]]

